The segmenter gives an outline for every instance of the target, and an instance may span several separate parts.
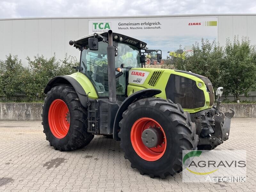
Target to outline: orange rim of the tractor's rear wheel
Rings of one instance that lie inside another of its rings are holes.
[[[54,137],[62,139],[68,134],[70,115],[68,106],[63,100],[52,101],[48,112],[48,122]]]

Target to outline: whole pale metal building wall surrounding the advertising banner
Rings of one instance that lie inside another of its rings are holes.
[[[109,17],[111,19],[135,18],[173,18],[173,17],[218,17],[218,41],[225,45],[228,37],[234,35],[249,36],[256,44],[256,15],[183,15],[183,16],[150,16],[150,17]],[[88,21],[92,18],[35,18],[0,20],[0,60],[11,53],[18,55],[24,65],[26,57],[36,54],[49,58],[56,54],[63,59],[65,53],[79,59],[79,51],[68,44],[80,36],[88,34]],[[108,19],[108,18],[93,18]]]

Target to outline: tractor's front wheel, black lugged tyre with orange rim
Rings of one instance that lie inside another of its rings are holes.
[[[171,100],[138,100],[123,113],[119,126],[124,157],[131,162],[132,168],[137,168],[142,175],[149,174],[151,178],[164,179],[181,172],[182,150],[196,149],[198,142],[196,125],[191,122],[189,113]],[[143,145],[141,139],[143,132],[150,127],[158,128],[156,131],[162,134],[159,138],[164,138],[154,148]]]

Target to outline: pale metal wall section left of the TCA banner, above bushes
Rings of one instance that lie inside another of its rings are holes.
[[[65,53],[79,59],[80,52],[69,40],[87,35],[88,19],[17,19],[0,20],[0,60],[11,53],[18,55],[24,65],[26,57],[39,54],[63,59]]]

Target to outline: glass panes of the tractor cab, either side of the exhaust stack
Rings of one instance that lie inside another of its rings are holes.
[[[116,78],[116,95],[125,96],[128,71],[130,68],[142,67],[140,63],[140,51],[138,48],[118,43],[118,55],[115,57],[116,68],[123,68],[123,75]],[[108,44],[99,42],[98,51],[89,50],[88,46],[81,53],[80,66],[83,72],[91,79],[99,97],[108,97]],[[116,72],[118,74],[118,72]]]

